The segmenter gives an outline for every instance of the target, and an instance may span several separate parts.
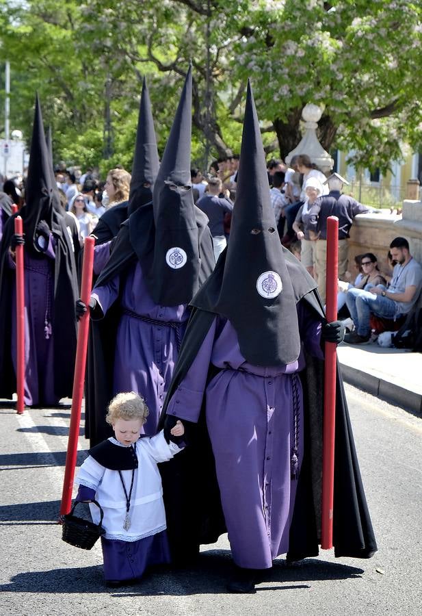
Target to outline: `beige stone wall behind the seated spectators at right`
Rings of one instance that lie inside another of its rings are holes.
[[[399,236],[408,240],[410,253],[422,264],[421,201],[404,201],[402,216],[389,211],[356,216],[350,231],[349,269],[355,255],[373,253],[378,257],[380,269],[388,272],[388,246]]]

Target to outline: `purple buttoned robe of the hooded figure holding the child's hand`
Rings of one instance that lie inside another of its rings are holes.
[[[303,346],[322,357],[321,322],[299,305],[302,351],[298,361],[276,367],[242,357],[233,326],[213,321],[167,413],[197,422],[205,392],[207,428],[233,559],[239,567],[266,569],[289,550],[297,481],[291,458],[303,456],[303,403],[298,372]],[[209,365],[220,372],[206,385]]]

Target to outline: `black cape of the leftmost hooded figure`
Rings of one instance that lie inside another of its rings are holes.
[[[14,214],[6,222],[0,246],[0,320],[3,331],[0,337],[0,398],[12,398],[12,394],[16,392],[16,376],[11,352],[11,297],[14,292],[16,274],[8,266],[8,250],[14,234],[14,218],[17,215]],[[20,215],[23,216],[23,210]],[[64,216],[56,216],[55,226],[60,227],[60,235],[55,235],[53,231],[56,241],[53,320],[51,323],[54,344],[54,392],[59,398],[70,398],[77,342],[77,322],[74,309],[78,296],[77,271]],[[25,233],[25,219],[23,231]]]

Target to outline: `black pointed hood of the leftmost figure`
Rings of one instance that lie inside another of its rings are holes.
[[[36,253],[42,252],[37,243],[36,233],[36,227],[40,220],[45,220],[51,231],[57,235],[62,234],[62,228],[57,220],[58,216],[62,216],[62,212],[60,211],[60,204],[57,203],[55,198],[52,177],[52,159],[45,140],[40,101],[37,94],[29,151],[25,207],[21,209],[28,248],[34,248]]]

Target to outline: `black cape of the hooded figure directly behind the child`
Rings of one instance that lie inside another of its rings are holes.
[[[116,275],[123,275],[137,263],[138,257],[130,239],[134,229],[137,233],[150,238],[150,250],[153,251],[154,228],[152,203],[142,206],[131,214],[129,220],[126,220],[120,227],[111,257],[98,277],[96,286],[104,285]],[[200,227],[199,231],[201,256],[199,282],[202,284],[213,270],[213,247],[207,224],[205,227]],[[143,259],[140,259],[140,263],[144,264]],[[119,297],[111,305],[104,318],[96,320],[96,314],[93,311],[90,320],[85,378],[85,437],[90,439],[92,446],[112,435],[111,428],[105,423],[105,415],[107,405],[113,396],[114,355],[120,317]]]

